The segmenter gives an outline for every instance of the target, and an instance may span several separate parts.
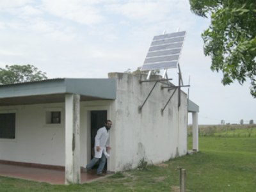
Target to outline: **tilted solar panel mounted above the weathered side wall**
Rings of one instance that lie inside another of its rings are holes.
[[[154,36],[141,70],[177,68],[186,31]]]

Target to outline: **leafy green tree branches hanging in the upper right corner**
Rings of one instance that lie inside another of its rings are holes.
[[[191,11],[211,16],[202,33],[204,54],[211,56],[211,70],[223,72],[224,85],[250,79],[256,98],[256,3],[255,0],[189,0]]]

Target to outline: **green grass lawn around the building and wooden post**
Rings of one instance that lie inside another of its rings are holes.
[[[196,154],[145,170],[119,172],[90,184],[55,186],[0,177],[0,191],[179,191],[180,167],[187,171],[187,191],[252,192],[256,191],[256,137],[243,137],[244,131],[239,136],[232,132],[225,132],[226,137],[201,136]]]

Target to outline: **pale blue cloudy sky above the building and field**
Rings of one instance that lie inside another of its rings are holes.
[[[223,86],[210,69],[201,38],[209,24],[188,0],[1,0],[0,68],[30,64],[48,78],[107,78],[141,67],[155,35],[186,31],[179,63],[190,87],[182,90],[200,106],[198,124],[256,122],[250,83]],[[174,84],[178,72],[168,69]]]

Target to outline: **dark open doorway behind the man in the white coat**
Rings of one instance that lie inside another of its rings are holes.
[[[91,154],[94,156],[95,136],[99,128],[105,125],[107,120],[107,111],[91,111]]]

